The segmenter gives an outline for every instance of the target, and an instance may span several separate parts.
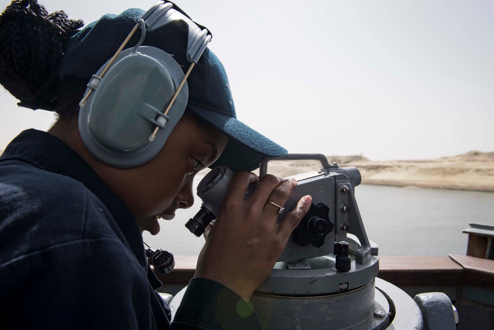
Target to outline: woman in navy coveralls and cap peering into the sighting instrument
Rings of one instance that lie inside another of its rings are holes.
[[[303,197],[277,224],[275,205],[284,205],[296,182],[271,175],[259,182],[240,171],[286,150],[236,119],[215,55],[206,48],[191,71],[185,113],[151,160],[120,168],[100,160],[81,138],[78,104],[85,85],[143,13],[105,15],[81,29],[82,21],[63,11],[50,14],[35,0],[20,0],[0,16],[1,85],[20,106],[58,114],[47,133],[22,132],[0,158],[2,326],[260,328],[247,301],[311,198]],[[172,54],[185,72],[187,38],[179,30],[170,24],[148,33],[144,45]],[[128,47],[137,40],[136,34]],[[158,218],[171,220],[177,208],[190,207],[195,174],[215,165],[239,172],[170,325],[141,234],[157,234]],[[248,185],[257,182],[245,200]]]

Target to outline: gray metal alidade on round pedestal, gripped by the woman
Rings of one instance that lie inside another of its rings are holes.
[[[427,330],[455,329],[454,308],[445,294],[429,293],[427,299],[414,301],[377,278],[378,247],[367,236],[355,199],[355,187],[361,183],[356,167],[330,165],[322,154],[288,154],[263,158],[261,178],[268,162],[275,160],[318,160],[322,166],[293,176],[297,186],[278,217],[283,221],[302,196],[311,195],[307,215],[251,297],[264,329],[408,330],[423,329],[424,319],[431,320]],[[219,214],[232,176],[228,168],[218,167],[199,184],[201,211],[186,224],[196,236]],[[246,199],[253,189],[252,185],[246,191]],[[184,291],[171,301],[172,311]]]

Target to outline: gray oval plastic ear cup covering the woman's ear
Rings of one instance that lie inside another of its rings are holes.
[[[103,79],[93,80],[86,90],[95,90],[79,111],[79,131],[86,148],[115,167],[135,167],[151,160],[185,111],[187,83],[166,116],[166,125],[149,141],[158,113],[164,111],[183,78],[180,66],[159,48],[123,50]]]

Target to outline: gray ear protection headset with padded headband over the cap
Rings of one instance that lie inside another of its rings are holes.
[[[174,21],[188,28],[187,60],[192,64],[185,75],[164,50],[141,46],[146,31]],[[122,50],[139,26],[138,44]],[[160,1],[144,13],[116,54],[87,84],[79,104],[79,131],[86,148],[99,160],[120,168],[139,166],[156,156],[185,111],[187,77],[210,40],[207,29],[170,2]]]

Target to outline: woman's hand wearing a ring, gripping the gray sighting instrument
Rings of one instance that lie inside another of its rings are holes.
[[[248,186],[257,182],[253,173],[234,175],[195,273],[228,286],[245,300],[269,275],[312,201],[310,196],[302,197],[278,224],[278,207],[268,201],[285,205],[297,183],[268,174],[246,200]]]

